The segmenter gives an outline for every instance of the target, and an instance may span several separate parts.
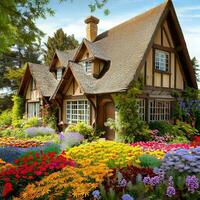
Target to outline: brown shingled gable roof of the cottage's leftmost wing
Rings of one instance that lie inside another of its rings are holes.
[[[55,79],[53,74],[49,72],[48,66],[27,63],[26,71],[24,73],[18,91],[19,95],[24,94],[27,84],[31,80],[31,77],[35,81],[37,89],[44,97],[50,97],[54,93],[58,85],[58,81]]]

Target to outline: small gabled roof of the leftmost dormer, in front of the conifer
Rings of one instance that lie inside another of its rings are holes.
[[[59,59],[61,65],[63,67],[67,67],[68,62],[73,59],[76,51],[77,51],[77,48],[73,49],[73,50],[67,50],[67,51],[60,51],[60,50],[56,49],[56,51],[53,55],[53,58],[52,58],[52,62],[50,64],[50,71],[52,71],[52,68],[55,64],[56,58]]]

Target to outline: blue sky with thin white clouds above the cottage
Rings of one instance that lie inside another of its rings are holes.
[[[55,10],[53,17],[37,21],[37,26],[46,33],[43,41],[59,29],[67,34],[74,34],[79,41],[86,36],[85,23],[89,15],[100,19],[99,33],[112,28],[148,9],[163,3],[165,0],[109,0],[105,8],[110,14],[105,16],[103,10],[90,12],[88,4],[91,0],[50,0],[50,7]],[[194,56],[200,63],[200,0],[173,0],[176,13],[188,46],[190,57]]]

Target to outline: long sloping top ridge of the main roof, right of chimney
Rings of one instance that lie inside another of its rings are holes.
[[[95,39],[94,42],[97,42],[97,41],[101,40],[102,38],[104,38],[104,37],[101,37],[101,36],[103,36],[107,32],[113,31],[114,29],[117,29],[117,28],[119,28],[121,26],[124,26],[124,25],[126,25],[126,24],[128,24],[128,23],[130,23],[130,22],[132,22],[134,20],[136,20],[137,18],[144,16],[145,14],[150,13],[150,12],[152,12],[155,9],[158,9],[161,6],[166,6],[168,3],[169,3],[169,0],[166,0],[165,2],[159,4],[158,6],[155,6],[155,7],[151,8],[151,9],[149,9],[149,10],[147,10],[147,11],[145,11],[145,12],[139,14],[139,15],[136,15],[136,16],[134,16],[134,17],[132,17],[132,18],[130,18],[130,19],[122,22],[121,24],[118,24],[118,25],[116,25],[116,26],[114,26],[114,27],[112,27],[112,28],[110,28],[110,29],[108,29],[108,30],[100,33],[99,35],[97,35],[97,37],[96,37],[96,39]]]

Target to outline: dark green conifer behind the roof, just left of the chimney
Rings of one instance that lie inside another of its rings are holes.
[[[74,35],[67,35],[62,29],[58,29],[53,37],[48,37],[45,46],[44,61],[45,64],[49,65],[56,49],[61,51],[74,49],[78,46],[78,41],[74,38]]]

